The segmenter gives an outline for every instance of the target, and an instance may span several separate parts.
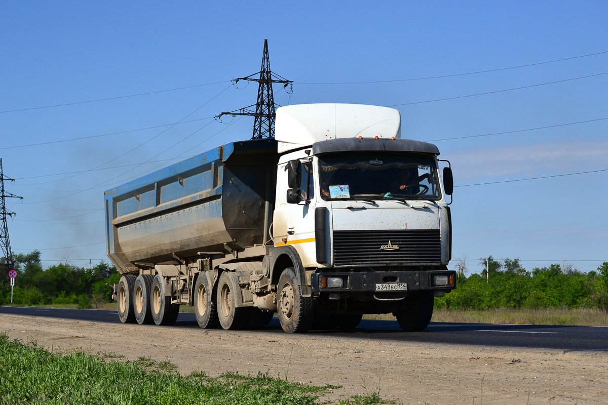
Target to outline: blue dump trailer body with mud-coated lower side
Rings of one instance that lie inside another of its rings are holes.
[[[105,192],[108,257],[120,273],[269,240],[274,139],[229,143]],[[140,265],[141,267],[141,265]]]

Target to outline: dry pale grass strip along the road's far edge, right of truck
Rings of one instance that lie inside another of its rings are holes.
[[[387,315],[365,315],[365,319],[391,319]],[[433,312],[432,322],[462,322],[514,325],[608,325],[608,313],[596,308],[544,308],[494,310],[444,310]]]

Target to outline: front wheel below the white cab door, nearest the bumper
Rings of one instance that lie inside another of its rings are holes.
[[[277,313],[281,327],[287,333],[308,332],[313,325],[313,297],[300,295],[297,277],[293,267],[283,270],[278,279]]]

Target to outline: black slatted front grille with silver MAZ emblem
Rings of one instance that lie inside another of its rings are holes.
[[[334,231],[337,266],[439,262],[439,230]]]

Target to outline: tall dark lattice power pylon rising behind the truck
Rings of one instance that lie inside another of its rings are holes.
[[[259,78],[254,78],[256,75],[260,75]],[[257,81],[258,86],[258,102],[248,107],[241,109],[223,112],[218,115],[253,115],[254,121],[254,135],[252,139],[261,138],[274,138],[274,118],[275,118],[275,106],[274,97],[272,94],[272,83],[282,83],[287,87],[289,84],[294,83],[292,80],[287,80],[284,77],[272,73],[270,70],[270,56],[268,55],[268,39],[264,39],[264,53],[262,55],[262,67],[260,72],[254,73],[247,77],[240,77],[235,79],[235,84],[239,80]],[[255,112],[252,110],[255,107]]]

